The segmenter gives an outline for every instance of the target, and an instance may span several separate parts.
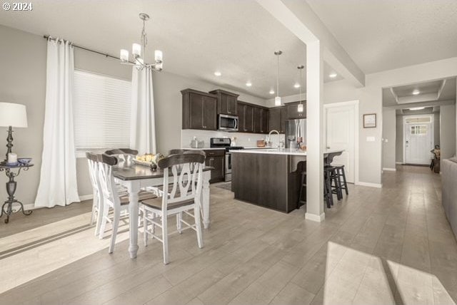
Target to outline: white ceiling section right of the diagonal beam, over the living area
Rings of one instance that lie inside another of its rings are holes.
[[[366,74],[457,56],[456,0],[306,0]]]

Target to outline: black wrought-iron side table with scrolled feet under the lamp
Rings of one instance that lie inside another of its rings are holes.
[[[14,193],[16,192],[16,186],[17,186],[17,182],[14,181],[14,177],[19,176],[19,174],[21,173],[21,170],[29,170],[29,168],[32,166],[34,166],[34,165],[33,164],[21,164],[21,163],[19,163],[18,165],[0,164],[0,172],[5,171],[6,177],[8,177],[8,179],[9,179],[9,181],[6,182],[6,192],[8,193],[8,200],[6,200],[4,202],[4,204],[1,206],[1,212],[0,212],[0,217],[2,217],[3,214],[6,214],[6,219],[5,219],[6,224],[9,222],[9,216],[12,213],[22,211],[22,214],[30,215],[31,212],[33,212],[33,211],[24,211],[24,205],[22,205],[22,202],[14,199]],[[17,169],[17,172],[14,172],[15,169]],[[18,210],[13,210],[14,203],[19,203],[20,207]],[[5,210],[5,206],[6,206],[6,210]]]

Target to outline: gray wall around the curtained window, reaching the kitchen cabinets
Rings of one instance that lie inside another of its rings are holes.
[[[18,178],[16,192],[24,204],[33,203],[39,185],[41,152],[43,149],[44,105],[46,95],[46,40],[24,31],[0,26],[0,101],[21,103],[27,107],[29,128],[14,130],[13,151],[19,156],[32,157],[35,167]],[[114,58],[75,48],[75,68],[116,78],[131,80],[131,67],[124,66]],[[221,88],[204,81],[177,76],[172,73],[154,73],[154,101],[156,107],[157,148],[166,152],[181,146],[181,93],[185,88],[211,91]],[[235,92],[230,90],[231,92]],[[265,105],[266,101],[241,93],[246,102]],[[0,128],[1,139],[5,139],[6,128]],[[6,148],[0,153],[6,153]],[[0,159],[3,157],[0,155]],[[76,160],[79,195],[91,195],[89,172],[85,158]],[[3,172],[1,173],[3,174]],[[0,175],[0,182],[6,181]],[[6,190],[0,183],[0,198]]]

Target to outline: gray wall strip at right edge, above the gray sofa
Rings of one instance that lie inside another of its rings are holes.
[[[456,105],[440,106],[441,158],[456,154]]]

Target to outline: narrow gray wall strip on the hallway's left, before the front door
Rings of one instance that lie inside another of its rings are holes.
[[[383,108],[383,168],[395,168],[396,110]]]

